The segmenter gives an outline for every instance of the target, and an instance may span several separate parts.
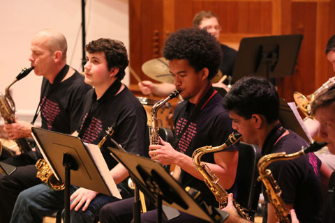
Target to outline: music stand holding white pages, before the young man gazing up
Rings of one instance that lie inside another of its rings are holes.
[[[50,169],[65,183],[64,222],[70,223],[70,185],[122,199],[98,146],[84,144],[70,134],[34,127],[31,130]]]

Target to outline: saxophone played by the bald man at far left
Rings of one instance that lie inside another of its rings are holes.
[[[12,86],[15,82],[19,81],[23,77],[26,77],[33,69],[34,67],[28,69],[23,68],[20,74],[15,77],[14,81],[6,87],[5,95],[0,93],[0,113],[5,123],[15,123],[15,103],[9,93],[10,86]],[[21,138],[15,139],[14,141],[16,142],[17,146],[19,146],[22,153],[31,151],[31,147],[29,146],[27,139]]]

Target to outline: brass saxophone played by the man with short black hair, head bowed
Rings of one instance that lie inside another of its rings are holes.
[[[228,137],[228,139],[225,141],[224,144],[221,146],[203,146],[200,148],[197,148],[193,154],[192,154],[192,160],[195,164],[195,167],[197,167],[198,171],[202,176],[204,176],[204,183],[206,183],[207,187],[211,190],[211,192],[214,194],[216,201],[218,201],[218,204],[220,208],[223,208],[228,203],[228,192],[218,183],[218,177],[207,167],[207,164],[204,162],[201,162],[200,159],[202,155],[205,153],[214,153],[218,151],[222,151],[223,149],[227,148],[228,146],[231,146],[232,144],[235,144],[237,141],[241,139],[241,134],[239,133],[232,133]],[[233,201],[234,207],[237,210],[237,213],[241,217],[243,217],[246,220],[250,220],[250,217],[244,213],[243,208],[237,203],[237,201]]]

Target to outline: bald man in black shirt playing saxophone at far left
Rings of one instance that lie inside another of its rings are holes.
[[[80,120],[82,95],[91,87],[84,83],[84,77],[79,72],[66,64],[66,51],[66,38],[62,33],[54,29],[40,30],[31,40],[29,61],[35,74],[43,77],[38,105],[42,128],[72,134]],[[29,92],[27,94],[29,96]],[[31,126],[16,120],[15,123],[5,124],[4,130],[10,139],[19,139],[30,137]],[[2,161],[17,169],[10,176],[0,176],[0,222],[10,221],[15,200],[22,190],[40,183],[35,167],[38,157],[42,156],[29,152]]]

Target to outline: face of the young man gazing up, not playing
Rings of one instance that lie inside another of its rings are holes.
[[[86,59],[84,82],[95,88],[103,86],[110,79],[111,73],[107,68],[105,54],[103,52],[87,53]]]

